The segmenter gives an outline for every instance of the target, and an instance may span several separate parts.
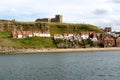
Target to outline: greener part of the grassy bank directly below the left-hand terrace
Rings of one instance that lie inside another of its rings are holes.
[[[54,48],[52,38],[24,38],[24,39],[11,39],[12,43],[16,44],[16,48]]]

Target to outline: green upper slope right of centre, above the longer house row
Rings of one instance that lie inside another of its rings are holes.
[[[102,32],[97,26],[90,24],[58,24],[58,23],[48,23],[50,25],[51,34],[56,33],[80,33],[80,32]]]

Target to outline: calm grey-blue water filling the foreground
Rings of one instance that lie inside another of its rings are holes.
[[[0,80],[120,80],[120,52],[0,55]]]

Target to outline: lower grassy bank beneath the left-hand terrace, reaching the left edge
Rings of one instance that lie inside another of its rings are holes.
[[[54,48],[52,38],[24,38],[13,39],[10,32],[0,32],[0,46],[13,48]]]

